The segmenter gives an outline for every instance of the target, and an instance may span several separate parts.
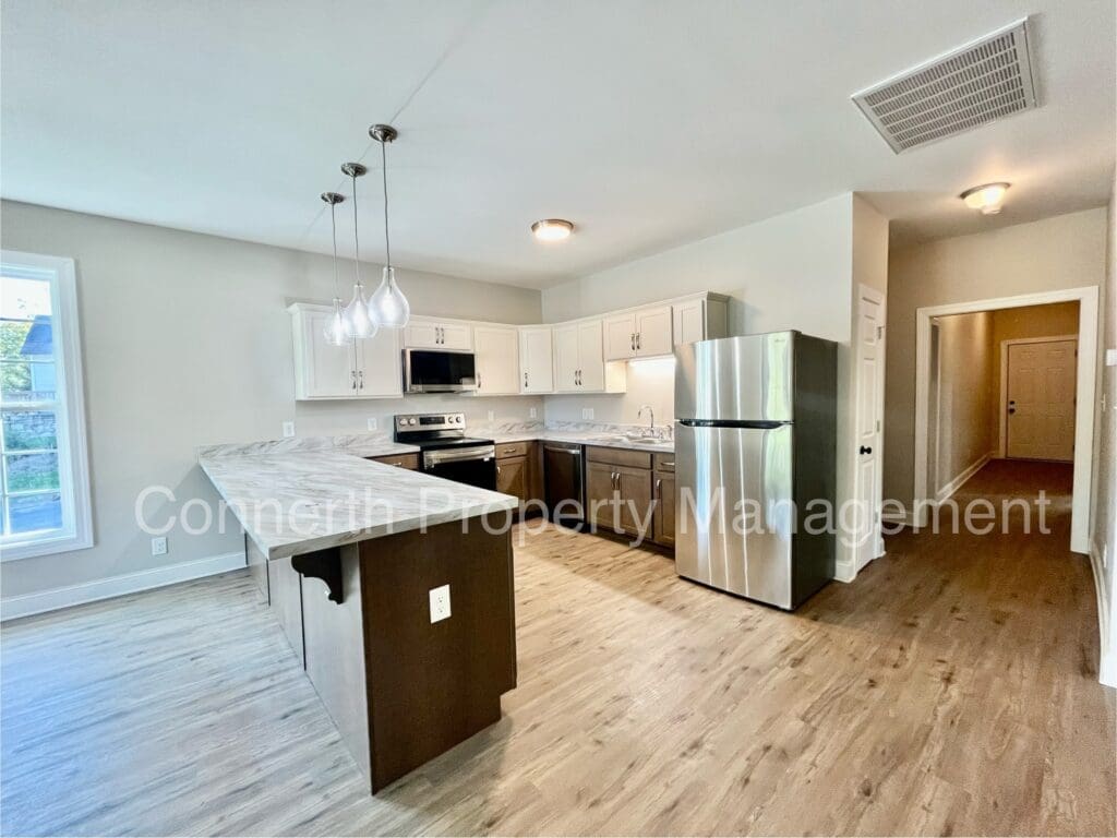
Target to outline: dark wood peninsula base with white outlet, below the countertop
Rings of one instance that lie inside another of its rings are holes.
[[[269,562],[273,610],[376,792],[499,721],[516,686],[512,536],[470,518],[332,556],[337,572],[319,577],[295,573],[297,556]],[[442,585],[450,616],[431,622]]]

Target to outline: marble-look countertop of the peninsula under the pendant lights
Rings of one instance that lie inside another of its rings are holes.
[[[201,456],[198,463],[268,559],[504,513],[519,503],[363,456],[381,456],[381,449]]]

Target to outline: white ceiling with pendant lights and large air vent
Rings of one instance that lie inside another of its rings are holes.
[[[1025,15],[1039,111],[897,156],[849,101]],[[1018,223],[1114,164],[1111,0],[6,0],[0,47],[6,198],[328,253],[391,121],[397,263],[529,287],[850,190],[901,242]],[[990,180],[1001,216],[956,199]]]

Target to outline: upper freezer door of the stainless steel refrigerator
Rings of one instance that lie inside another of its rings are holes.
[[[675,418],[791,421],[794,332],[699,341],[675,350]]]

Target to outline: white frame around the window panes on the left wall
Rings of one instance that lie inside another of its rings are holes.
[[[59,256],[0,250],[0,274],[50,283],[56,400],[60,404],[59,412],[63,413],[59,418],[65,419],[56,426],[63,527],[39,534],[0,536],[0,561],[18,561],[92,547],[89,451],[74,260]]]

